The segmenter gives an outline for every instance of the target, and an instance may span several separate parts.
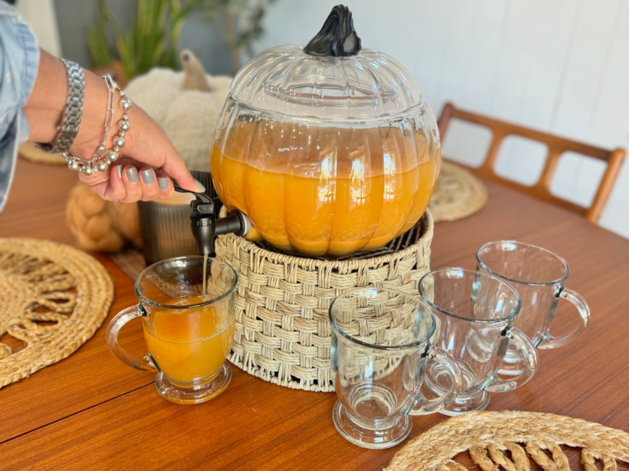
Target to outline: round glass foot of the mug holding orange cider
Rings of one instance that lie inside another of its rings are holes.
[[[197,386],[176,386],[160,371],[155,377],[155,389],[157,394],[175,404],[201,404],[221,394],[227,389],[231,380],[232,368],[226,361],[211,381]]]

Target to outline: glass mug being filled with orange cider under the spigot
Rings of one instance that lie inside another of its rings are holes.
[[[155,388],[177,404],[216,397],[232,378],[226,361],[234,338],[237,274],[220,260],[201,255],[170,258],[138,276],[137,306],[114,316],[107,346],[122,362],[157,371]],[[141,317],[148,354],[131,355],[118,343],[121,328]]]

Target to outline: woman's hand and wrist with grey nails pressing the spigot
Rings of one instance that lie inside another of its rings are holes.
[[[37,79],[24,112],[30,125],[30,139],[50,143],[57,134],[57,125],[63,116],[68,77],[60,59],[44,50],[40,50],[40,53]],[[83,112],[71,151],[75,157],[89,162],[103,143],[110,91],[103,78],[88,70],[84,70],[83,74]],[[113,140],[119,133],[118,123],[125,114],[120,106],[120,98],[120,92],[115,90],[112,127],[105,140],[108,150],[114,147]],[[92,175],[78,172],[79,178],[101,198],[110,201],[168,198],[174,191],[172,180],[184,189],[199,191],[186,164],[163,129],[137,105],[132,105],[126,114],[130,128],[125,132],[125,144],[120,147],[119,158],[106,171]]]

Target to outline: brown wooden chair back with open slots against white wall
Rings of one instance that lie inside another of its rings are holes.
[[[507,123],[496,118],[490,118],[489,116],[482,116],[481,114],[468,112],[463,109],[456,108],[452,103],[446,103],[446,105],[444,105],[443,110],[441,111],[441,116],[439,117],[439,134],[441,135],[442,142],[443,138],[447,134],[448,125],[450,124],[450,120],[452,118],[487,127],[492,133],[492,139],[483,163],[480,167],[468,167],[470,168],[470,171],[481,178],[501,183],[508,187],[522,191],[523,193],[528,193],[529,195],[535,196],[541,200],[549,201],[561,207],[575,211],[583,216],[586,216],[590,222],[598,222],[625,158],[625,149],[618,148],[610,151],[601,147],[581,143],[577,140],[555,136],[553,134],[540,132],[521,125]],[[537,182],[532,186],[522,185],[519,182],[503,178],[495,172],[495,165],[499,156],[500,145],[504,138],[510,135],[521,136],[526,139],[534,140],[543,143],[546,147],[548,147],[548,154],[546,155],[546,161],[544,163],[543,170],[541,171],[541,175],[539,176],[539,180],[537,180]],[[563,200],[562,198],[558,198],[550,193],[550,183],[552,182],[555,170],[557,169],[559,158],[561,157],[561,154],[566,151],[573,151],[577,154],[596,158],[607,164],[605,174],[603,174],[603,178],[601,178],[596,196],[592,201],[592,205],[588,208]]]

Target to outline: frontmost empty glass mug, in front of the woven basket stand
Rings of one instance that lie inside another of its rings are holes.
[[[409,415],[437,412],[461,388],[453,361],[430,344],[435,318],[419,298],[393,289],[359,288],[330,305],[332,420],[342,437],[363,448],[390,448],[412,427]],[[441,395],[425,395],[435,370]]]

